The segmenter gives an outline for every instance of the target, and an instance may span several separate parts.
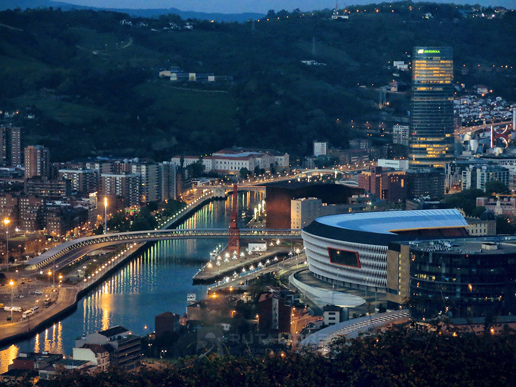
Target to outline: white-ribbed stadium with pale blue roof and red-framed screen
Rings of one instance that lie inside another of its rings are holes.
[[[302,237],[315,277],[385,292],[391,241],[465,235],[466,226],[456,209],[370,212],[317,218],[302,230]]]

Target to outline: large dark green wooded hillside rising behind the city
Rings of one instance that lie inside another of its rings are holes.
[[[173,14],[3,11],[0,110],[19,110],[24,143],[49,146],[56,160],[166,159],[233,145],[304,155],[314,139],[346,147],[360,135],[357,123],[380,120],[377,87],[392,81],[393,60],[410,61],[414,45],[453,46],[458,82],[514,100],[514,12],[487,20],[459,9],[382,3],[343,22],[329,11],[280,11],[240,24],[190,20],[193,29]],[[423,18],[427,12],[432,18]],[[158,78],[173,66],[233,80]],[[397,80],[408,83],[409,74]],[[404,116],[407,107],[396,101],[392,114]]]

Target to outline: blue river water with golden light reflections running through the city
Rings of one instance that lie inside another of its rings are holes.
[[[238,214],[253,213],[263,199],[261,192],[239,193]],[[185,220],[181,229],[229,227],[231,197],[206,204]],[[245,220],[241,218],[241,223]],[[36,336],[7,348],[0,348],[0,373],[19,351],[72,353],[75,339],[85,333],[122,325],[133,334],[154,331],[154,316],[163,312],[184,314],[186,295],[197,299],[207,287],[192,285],[192,276],[209,260],[209,253],[226,239],[162,240],[120,268],[77,304],[77,310]]]

